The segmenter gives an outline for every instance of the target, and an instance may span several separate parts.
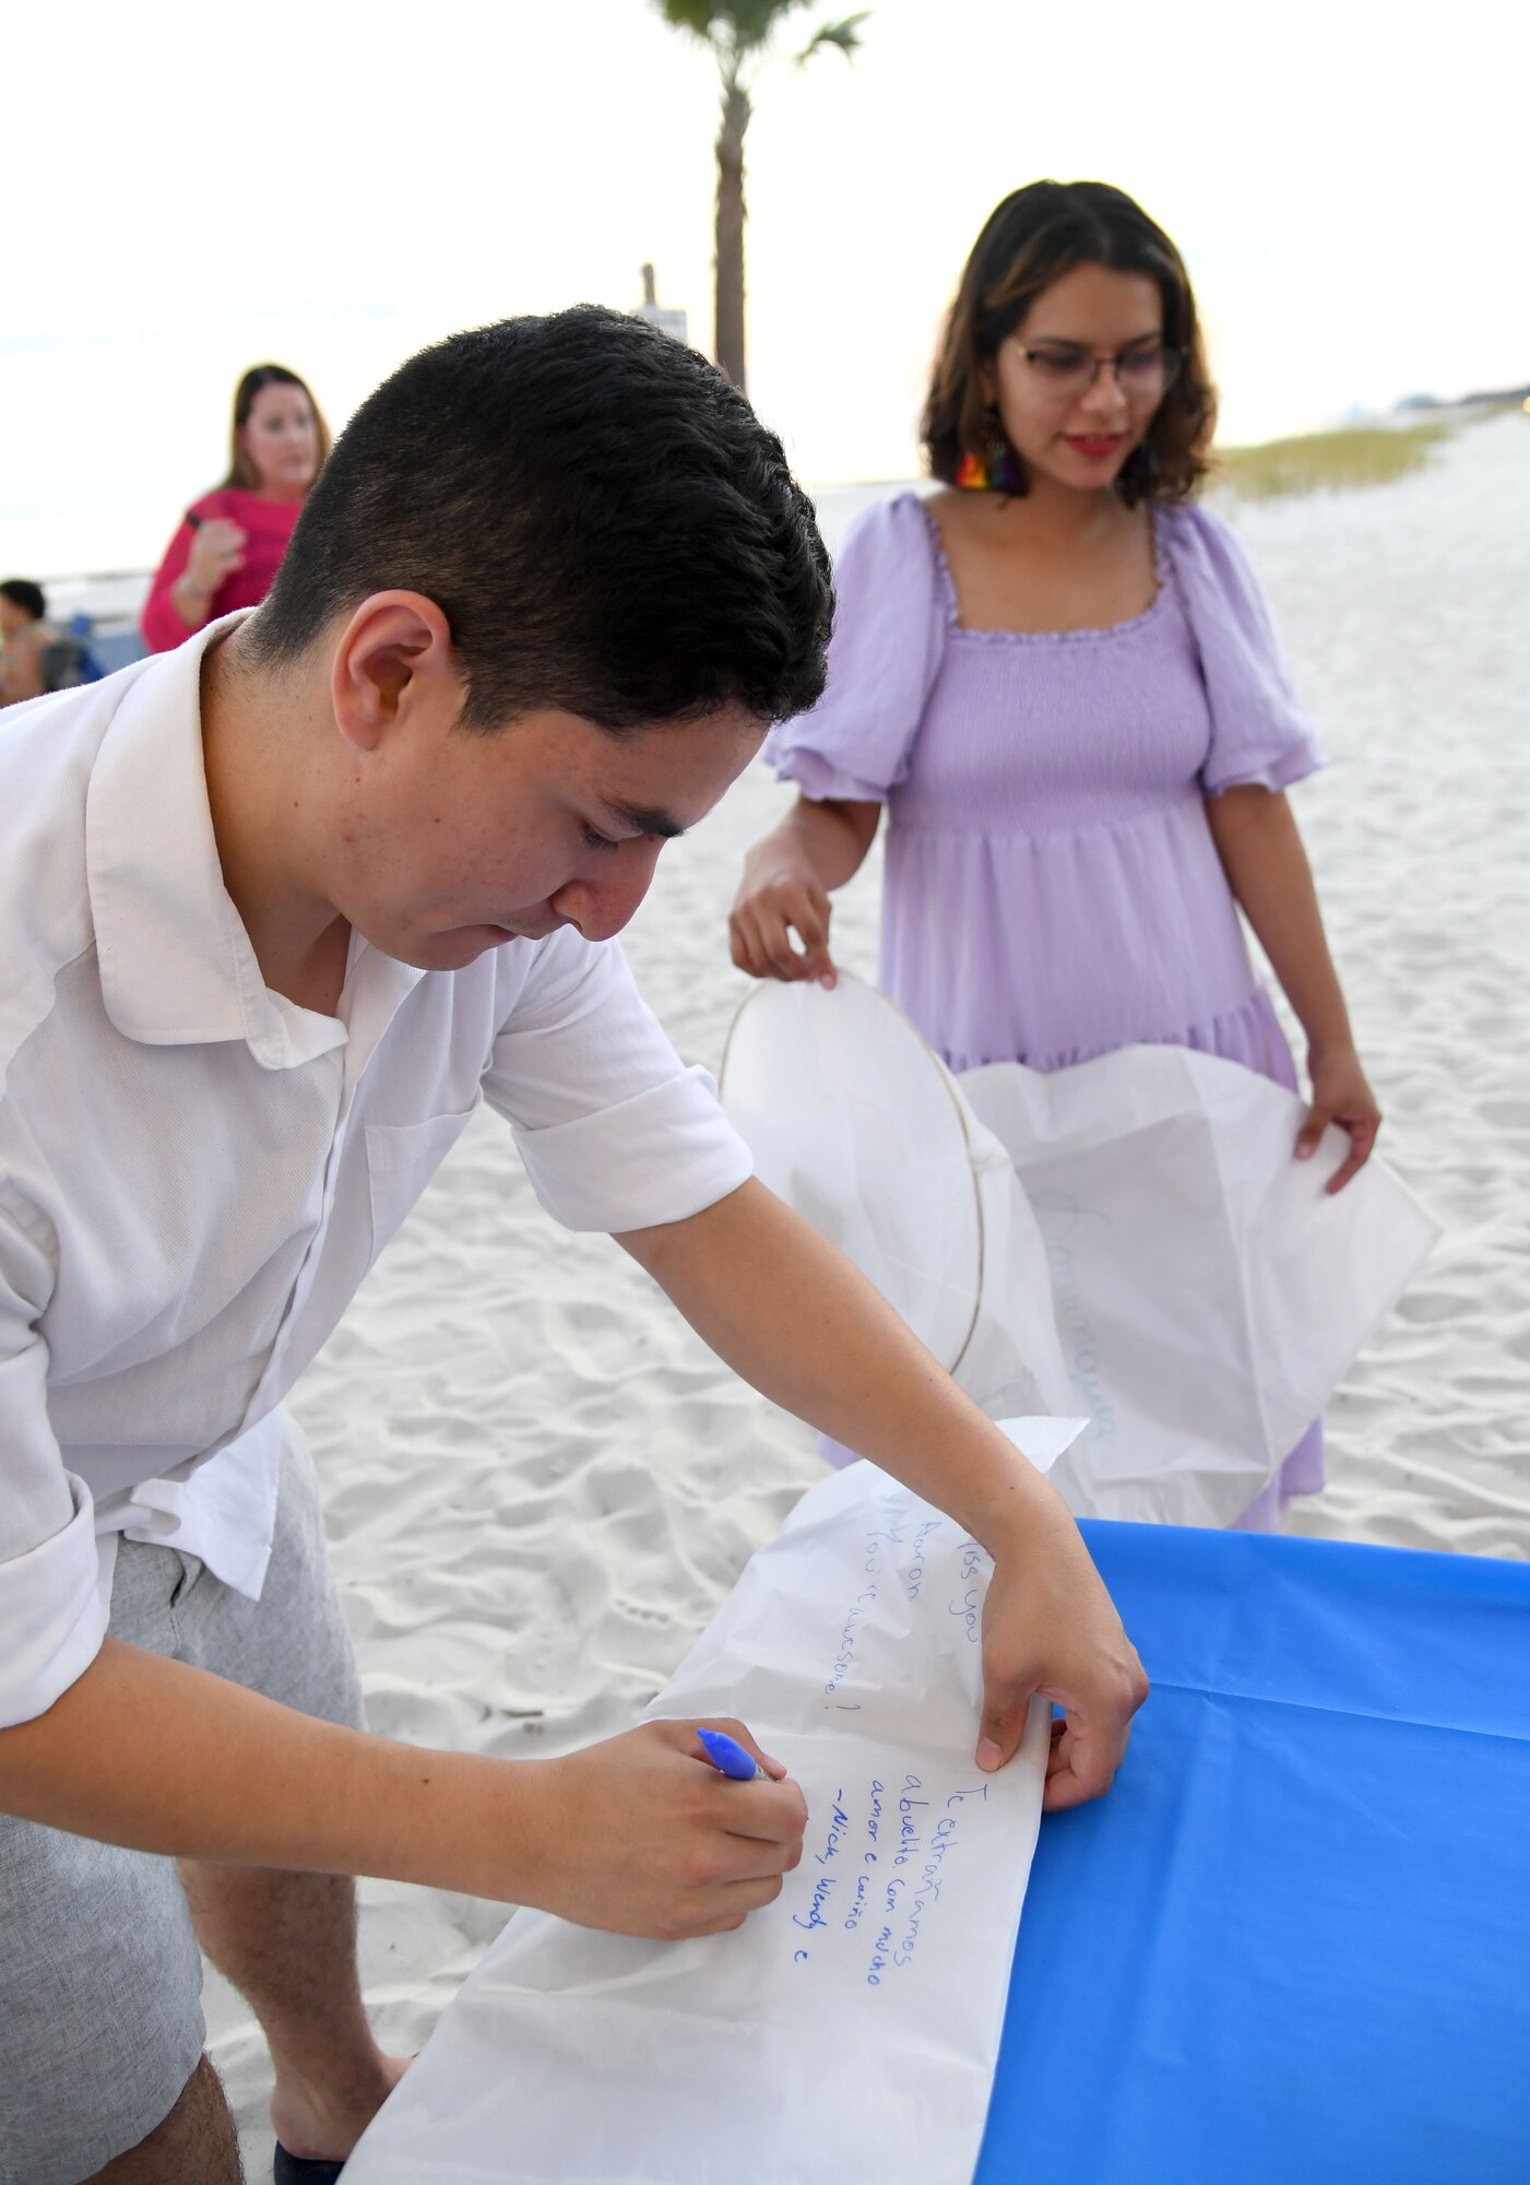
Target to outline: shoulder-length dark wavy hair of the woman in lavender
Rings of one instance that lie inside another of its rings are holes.
[[[929,382],[922,439],[933,476],[955,483],[964,454],[984,457],[994,417],[984,398],[990,365],[1027,310],[1073,267],[1145,273],[1163,297],[1163,339],[1185,363],[1132,450],[1117,489],[1139,500],[1187,500],[1209,465],[1217,398],[1180,253],[1143,208],[1108,181],[1032,181],[997,205],[966,260]],[[1016,468],[1019,465],[1016,459]],[[1023,492],[1025,487],[1016,487]]]

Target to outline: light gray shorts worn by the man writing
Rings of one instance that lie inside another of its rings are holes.
[[[111,1634],[361,1726],[319,1488],[291,1420],[260,1599],[195,1556],[122,1540]],[[0,2185],[76,2185],[138,2146],[175,2106],[203,2032],[175,1859],[0,1816]]]

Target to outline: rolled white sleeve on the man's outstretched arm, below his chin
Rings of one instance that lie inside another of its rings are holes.
[[[616,942],[573,926],[538,944],[483,1090],[564,1228],[684,1221],[752,1173],[710,1075],[669,1044]]]

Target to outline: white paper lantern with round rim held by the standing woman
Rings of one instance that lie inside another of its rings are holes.
[[[756,1173],[999,1418],[1080,1412],[1080,1516],[1228,1525],[1274,1477],[1438,1237],[1349,1141],[1237,1062],[1126,1047],[960,1079],[874,990],[765,985],[723,1103]],[[1040,1398],[1040,1401],[1038,1401]]]

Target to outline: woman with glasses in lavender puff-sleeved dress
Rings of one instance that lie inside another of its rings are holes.
[[[1152,1040],[1294,1088],[1241,907],[1307,1034],[1296,1156],[1340,1123],[1340,1191],[1379,1110],[1285,802],[1322,756],[1193,500],[1213,417],[1163,229],[1106,184],[1008,197],[925,409],[942,489],[852,527],[828,688],[767,747],[800,795],[748,857],[732,957],[833,983],[828,896],[887,806],[881,983],[951,1068]],[[1318,1486],[1320,1425],[1241,1523]]]

